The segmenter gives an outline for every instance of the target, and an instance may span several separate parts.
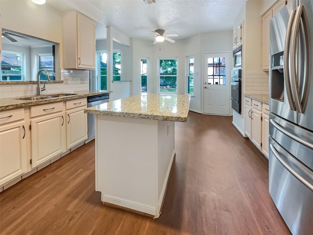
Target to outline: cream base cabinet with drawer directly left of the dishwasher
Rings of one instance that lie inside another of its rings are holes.
[[[86,108],[87,98],[66,102],[67,149],[88,138],[88,116],[84,114]]]

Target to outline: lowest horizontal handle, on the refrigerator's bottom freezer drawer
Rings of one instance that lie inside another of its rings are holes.
[[[304,184],[307,188],[313,191],[313,172],[304,164],[301,164],[297,160],[295,160],[289,154],[287,156],[280,155],[278,151],[275,149],[273,144],[269,145],[270,150],[276,157],[276,159],[302,184]],[[283,159],[284,158],[284,159]],[[291,164],[288,164],[291,163]],[[293,167],[292,167],[293,166]]]

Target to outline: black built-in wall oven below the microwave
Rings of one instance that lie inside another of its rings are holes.
[[[242,69],[232,70],[230,80],[231,108],[238,114],[241,114],[241,74]]]

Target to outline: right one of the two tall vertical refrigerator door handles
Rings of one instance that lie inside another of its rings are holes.
[[[294,23],[292,25],[292,35],[291,35],[291,90],[294,98],[294,104],[299,113],[303,113],[302,104],[300,101],[300,95],[298,90],[298,63],[296,56],[298,55],[297,45],[299,42],[298,33],[299,33],[299,25],[301,21],[301,15],[303,12],[304,6],[298,6],[297,11],[294,17]]]

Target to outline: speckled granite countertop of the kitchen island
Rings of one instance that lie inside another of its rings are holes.
[[[186,122],[190,96],[185,94],[137,94],[84,110],[87,114]]]

